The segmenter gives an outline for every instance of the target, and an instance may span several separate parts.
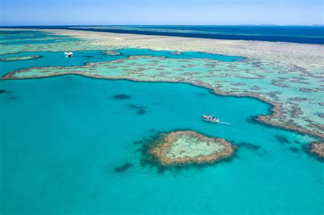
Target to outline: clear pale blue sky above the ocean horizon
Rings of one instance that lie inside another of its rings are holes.
[[[0,25],[314,25],[323,10],[323,0],[0,0]]]

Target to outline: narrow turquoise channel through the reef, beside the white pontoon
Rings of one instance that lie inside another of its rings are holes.
[[[82,66],[85,63],[113,61],[116,59],[126,59],[133,55],[144,55],[152,57],[166,57],[170,59],[190,59],[190,58],[204,58],[216,59],[219,61],[237,61],[243,59],[242,57],[214,55],[208,53],[198,52],[183,52],[181,55],[176,55],[172,51],[151,51],[140,48],[124,48],[116,50],[120,55],[106,55],[104,51],[75,51],[75,57],[67,58],[62,52],[23,52],[8,55],[0,55],[1,58],[16,57],[16,56],[34,56],[39,55],[40,58],[32,60],[19,61],[1,61],[0,60],[0,74],[7,74],[16,70],[48,66]]]

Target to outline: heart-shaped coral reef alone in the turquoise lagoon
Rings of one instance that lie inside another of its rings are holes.
[[[195,131],[176,131],[161,135],[149,154],[162,166],[213,163],[234,154],[234,145],[225,139],[206,137]]]

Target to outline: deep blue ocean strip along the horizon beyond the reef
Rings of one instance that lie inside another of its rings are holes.
[[[30,28],[24,26],[25,28]],[[189,38],[225,40],[260,40],[271,42],[296,42],[324,44],[323,26],[168,26],[168,25],[107,25],[86,26],[32,26],[39,29],[81,29],[83,31],[106,31],[112,33],[135,33],[144,35],[172,35]],[[13,27],[15,28],[15,27]],[[21,27],[19,27],[21,28]]]

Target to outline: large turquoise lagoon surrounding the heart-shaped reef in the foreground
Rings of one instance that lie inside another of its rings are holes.
[[[323,163],[303,152],[308,137],[250,123],[269,111],[258,100],[72,75],[0,86],[1,214],[323,214]],[[208,124],[205,113],[230,125]],[[135,142],[177,129],[240,147],[203,168],[142,167]],[[134,166],[114,171],[126,163]]]

